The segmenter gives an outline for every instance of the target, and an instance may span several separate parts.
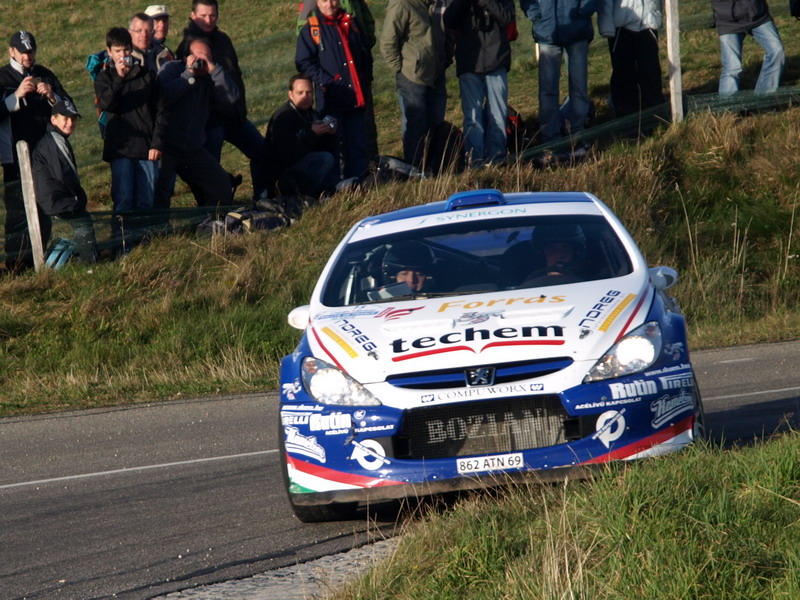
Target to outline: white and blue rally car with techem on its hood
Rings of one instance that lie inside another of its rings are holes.
[[[686,324],[588,193],[477,190],[357,223],[281,364],[302,521],[656,456],[705,435]]]

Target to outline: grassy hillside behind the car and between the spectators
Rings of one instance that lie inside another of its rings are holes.
[[[370,5],[380,21],[385,3]],[[84,118],[73,142],[81,177],[91,210],[108,210],[110,171],[99,159],[93,91],[83,64],[103,46],[106,29],[125,24],[141,6],[129,0],[98,6],[88,0],[12,2],[0,38],[18,27],[30,29],[39,61],[77,98]],[[262,130],[285,100],[285,83],[294,70],[295,8],[274,1],[221,3],[220,26],[237,44],[250,118]],[[681,11],[684,89],[713,91],[719,49],[714,31],[704,27],[710,9],[694,0]],[[786,47],[797,47],[800,30],[785,16],[785,7],[775,14]],[[510,103],[535,131],[536,64],[529,22],[519,17]],[[184,22],[173,18],[173,47]],[[759,61],[749,40],[745,86],[754,85]],[[789,50],[785,84],[797,82],[798,62]],[[396,93],[382,58],[376,56],[375,65],[381,148],[396,155]],[[608,74],[606,42],[597,39],[590,54],[590,90],[599,122],[610,118]],[[460,123],[457,87],[453,76],[448,118]],[[800,333],[798,155],[797,109],[748,117],[694,114],[640,143],[608,141],[592,160],[571,169],[537,171],[516,164],[393,184],[364,196],[337,196],[284,231],[162,238],[91,272],[71,264],[57,273],[0,275],[0,415],[274,388],[278,359],[298,339],[286,314],[307,302],[330,251],[357,219],[479,187],[598,195],[651,264],[679,269],[675,293],[689,319],[693,348],[792,339]],[[226,147],[223,163],[247,179],[238,151]],[[249,195],[246,184],[242,201]],[[176,204],[191,203],[179,185]],[[98,235],[107,231],[103,225]]]

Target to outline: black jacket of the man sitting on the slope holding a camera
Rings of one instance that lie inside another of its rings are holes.
[[[319,118],[317,111],[299,110],[291,100],[272,115],[264,137],[266,170],[272,184],[306,154],[324,151],[336,155],[336,136],[317,135],[311,130]]]

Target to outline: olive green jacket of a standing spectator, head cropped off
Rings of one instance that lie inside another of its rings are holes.
[[[395,73],[433,87],[446,68],[445,34],[432,0],[389,0],[381,54]]]

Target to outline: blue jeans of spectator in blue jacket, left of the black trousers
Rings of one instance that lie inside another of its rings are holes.
[[[561,137],[558,114],[561,62],[567,53],[569,83],[570,131],[575,133],[586,126],[589,115],[589,42],[581,40],[568,46],[539,45],[539,123],[542,140],[549,142]]]

